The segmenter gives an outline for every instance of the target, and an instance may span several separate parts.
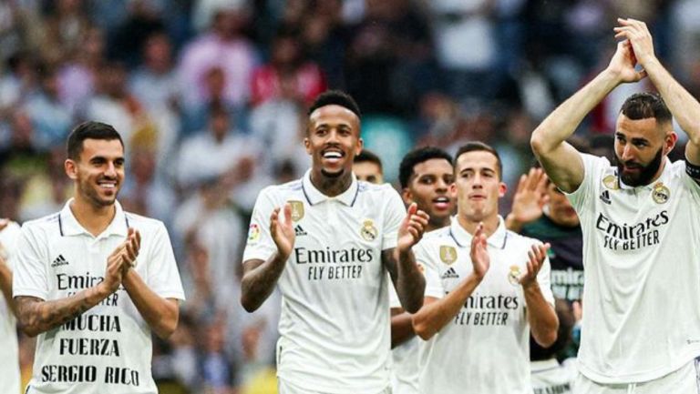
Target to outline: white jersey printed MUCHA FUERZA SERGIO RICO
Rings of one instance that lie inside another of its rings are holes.
[[[14,296],[51,301],[96,286],[104,280],[108,256],[134,227],[141,248],[132,269],[160,297],[184,299],[165,226],[115,204],[115,217],[98,237],[80,226],[70,201],[57,214],[26,222],[17,244]],[[150,333],[120,286],[77,318],[39,334],[26,393],[156,394]]]

